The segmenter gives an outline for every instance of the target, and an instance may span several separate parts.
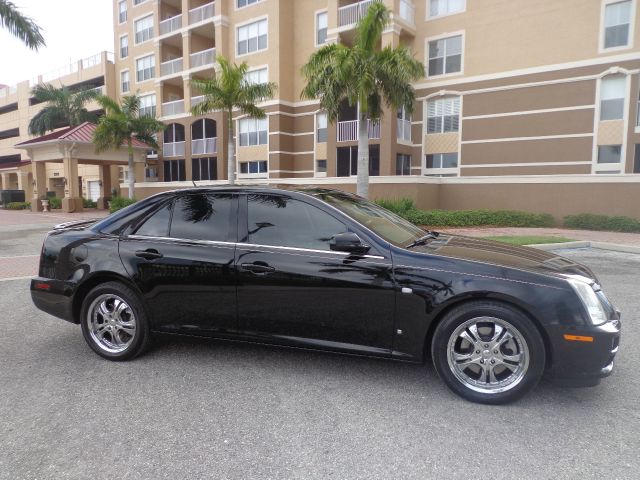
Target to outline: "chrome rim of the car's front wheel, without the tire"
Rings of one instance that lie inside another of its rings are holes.
[[[506,392],[518,385],[529,368],[529,348],[509,322],[476,317],[449,337],[447,360],[455,377],[480,393]]]

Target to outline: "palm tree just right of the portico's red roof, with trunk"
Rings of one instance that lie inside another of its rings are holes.
[[[93,144],[97,152],[110,148],[118,149],[123,144],[129,151],[129,198],[134,198],[135,174],[133,167],[133,140],[140,140],[150,148],[158,149],[155,135],[164,129],[165,125],[150,115],[140,115],[140,97],[126,95],[121,104],[106,95],[96,99],[104,109],[105,114],[100,117],[98,126],[93,134]]]

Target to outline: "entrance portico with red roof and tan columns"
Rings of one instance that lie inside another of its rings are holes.
[[[65,212],[82,211],[81,184],[78,177],[78,165],[97,165],[100,171],[99,209],[107,208],[111,199],[111,169],[113,165],[127,166],[129,154],[125,145],[120,149],[110,149],[97,153],[93,145],[93,132],[96,125],[85,122],[77,127],[68,127],[42,137],[34,138],[16,145],[27,151],[31,158],[33,176],[33,195],[31,209],[42,210],[40,199],[47,193],[46,163],[62,163],[64,197],[62,210]],[[134,162],[144,163],[149,147],[134,140]]]

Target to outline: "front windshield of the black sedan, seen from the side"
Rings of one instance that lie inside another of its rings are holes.
[[[375,203],[336,192],[318,197],[394,245],[405,247],[425,235],[420,227]]]

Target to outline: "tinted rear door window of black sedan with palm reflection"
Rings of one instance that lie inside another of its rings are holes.
[[[229,241],[234,201],[233,195],[220,194],[198,193],[180,197],[173,209],[170,236]]]

